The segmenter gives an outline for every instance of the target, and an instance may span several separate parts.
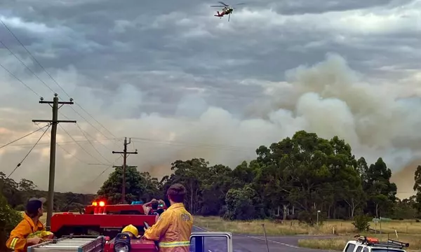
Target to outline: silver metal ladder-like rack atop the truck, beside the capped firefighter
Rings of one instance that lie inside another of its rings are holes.
[[[41,244],[29,246],[27,252],[43,251],[77,251],[77,252],[100,252],[103,250],[105,237],[103,236],[69,236],[53,239]]]

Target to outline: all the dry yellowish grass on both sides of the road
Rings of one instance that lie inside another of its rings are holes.
[[[285,221],[283,223],[275,223],[274,221],[223,221],[218,217],[194,217],[194,225],[206,228],[209,231],[226,231],[237,234],[263,235],[262,224],[265,224],[265,230],[268,236],[276,235],[338,235],[331,239],[300,239],[299,246],[307,248],[321,248],[325,250],[342,251],[345,244],[350,239],[354,239],[354,235],[358,232],[352,225],[351,221],[326,221],[319,227],[309,227],[300,224],[298,221]],[[370,228],[375,228],[374,223],[370,223]],[[377,230],[380,227],[377,225]],[[398,233],[396,238],[395,230]],[[383,241],[389,239],[397,239],[403,242],[409,242],[410,250],[421,250],[421,223],[415,221],[390,221],[382,223],[382,234],[361,234],[377,237]],[[386,234],[386,235],[385,235]]]

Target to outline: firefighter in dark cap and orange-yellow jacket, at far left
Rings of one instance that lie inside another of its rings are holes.
[[[43,205],[46,198],[32,198],[27,202],[23,220],[12,230],[6,246],[15,252],[26,251],[27,246],[39,244],[44,239],[53,238],[52,232],[47,232],[44,224],[39,221],[43,216]]]

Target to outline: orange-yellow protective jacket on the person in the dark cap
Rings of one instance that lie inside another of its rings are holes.
[[[45,230],[41,221],[38,221],[35,225],[32,218],[25,214],[23,220],[12,230],[11,236],[6,241],[6,246],[15,252],[26,251],[29,245],[27,239],[35,236],[42,237]]]

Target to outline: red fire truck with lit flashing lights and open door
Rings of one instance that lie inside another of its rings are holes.
[[[154,241],[133,239],[121,233],[126,225],[134,225],[143,235],[144,228],[154,225],[155,219],[154,215],[145,215],[142,204],[107,205],[105,201],[95,201],[79,214],[54,214],[51,232],[55,238],[29,246],[27,251],[158,252]],[[206,244],[216,244],[223,252],[232,251],[229,232],[193,232],[190,242],[190,251],[208,252]]]

